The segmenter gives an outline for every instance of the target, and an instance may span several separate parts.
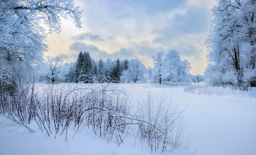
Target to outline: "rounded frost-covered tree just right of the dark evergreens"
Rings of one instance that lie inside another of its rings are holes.
[[[146,82],[144,74],[146,73],[146,67],[137,58],[130,60],[128,64],[128,69],[125,69],[121,75],[121,81],[124,83],[138,81]]]

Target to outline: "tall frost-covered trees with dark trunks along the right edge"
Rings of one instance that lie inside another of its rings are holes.
[[[208,34],[205,75],[215,86],[247,90],[255,83],[255,0],[218,0]]]

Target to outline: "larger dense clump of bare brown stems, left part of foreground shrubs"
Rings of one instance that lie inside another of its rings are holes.
[[[111,140],[116,133],[124,133],[125,125],[117,125],[125,124],[124,118],[113,116],[129,113],[126,98],[124,92],[108,85],[31,85],[20,87],[13,96],[1,94],[0,113],[30,132],[34,132],[29,127],[32,121],[49,136],[67,132],[69,127],[79,130],[91,126],[95,133]]]

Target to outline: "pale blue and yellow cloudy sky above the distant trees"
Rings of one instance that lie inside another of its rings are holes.
[[[192,75],[207,66],[205,40],[215,0],[75,0],[83,10],[82,27],[62,19],[62,31],[47,38],[46,56],[76,61],[80,51],[91,58],[135,59],[154,67],[151,56],[177,50],[190,62]]]

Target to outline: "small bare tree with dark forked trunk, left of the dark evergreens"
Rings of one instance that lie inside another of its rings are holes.
[[[46,77],[48,77],[51,83],[55,83],[61,72],[62,59],[58,56],[45,56],[45,64],[48,67],[47,73],[45,74]]]

